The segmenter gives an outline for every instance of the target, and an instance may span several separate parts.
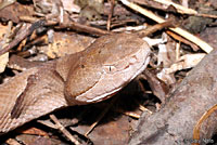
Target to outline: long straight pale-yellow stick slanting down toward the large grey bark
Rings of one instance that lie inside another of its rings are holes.
[[[125,5],[129,6],[130,9],[137,11],[137,12],[140,12],[141,14],[150,17],[151,19],[157,22],[157,23],[164,23],[165,19],[155,15],[154,13],[152,13],[151,11],[149,10],[145,10],[141,6],[139,6],[138,4],[135,4],[132,2],[129,2],[128,0],[120,0]],[[209,53],[213,48],[207,44],[206,42],[204,42],[203,40],[201,40],[200,38],[193,36],[192,34],[188,32],[187,30],[184,29],[181,29],[179,27],[176,27],[176,28],[169,28],[170,30],[179,34],[180,36],[184,37],[186,39],[190,40],[191,42],[197,44],[202,50],[204,50],[206,53]]]

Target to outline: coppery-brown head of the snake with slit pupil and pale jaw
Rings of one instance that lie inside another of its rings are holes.
[[[132,34],[99,38],[71,68],[66,100],[81,105],[108,98],[146,68],[149,54],[148,43]]]

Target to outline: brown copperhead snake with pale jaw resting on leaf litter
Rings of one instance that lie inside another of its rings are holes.
[[[111,97],[146,68],[149,54],[137,35],[116,34],[16,75],[0,85],[0,133],[59,108]]]

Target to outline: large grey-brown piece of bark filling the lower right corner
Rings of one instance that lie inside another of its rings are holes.
[[[130,145],[212,142],[217,127],[217,113],[203,122],[199,141],[193,140],[193,129],[202,115],[217,102],[216,57],[215,50],[190,71],[159,111],[140,118]]]

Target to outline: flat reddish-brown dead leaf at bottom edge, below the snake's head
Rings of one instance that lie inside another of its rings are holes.
[[[89,130],[89,126],[79,126],[73,130],[85,134]],[[126,145],[129,132],[128,117],[122,116],[113,121],[100,123],[88,136],[95,145]]]

